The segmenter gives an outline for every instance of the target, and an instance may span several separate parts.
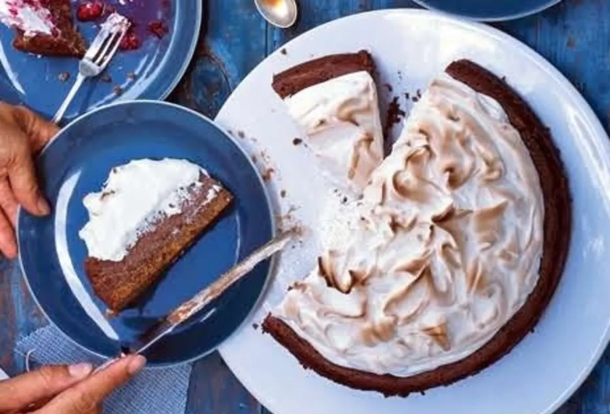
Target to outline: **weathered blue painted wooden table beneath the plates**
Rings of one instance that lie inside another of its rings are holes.
[[[415,7],[409,0],[303,0],[298,24],[289,30],[279,30],[260,18],[252,0],[203,2],[206,17],[199,47],[187,75],[170,99],[208,116],[218,112],[257,63],[296,35],[351,13]],[[557,66],[589,101],[606,129],[610,129],[610,2],[564,0],[539,15],[495,26],[524,41]],[[0,315],[0,365],[15,375],[23,369],[23,357],[13,352],[16,339],[46,322],[27,294],[15,264],[1,260]],[[265,411],[232,376],[218,354],[195,363],[188,413]],[[610,414],[610,351],[558,413]]]

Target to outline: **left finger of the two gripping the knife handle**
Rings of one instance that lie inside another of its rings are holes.
[[[87,377],[91,364],[71,366],[43,366],[14,379],[0,382],[0,412],[26,409],[44,399],[49,399]]]

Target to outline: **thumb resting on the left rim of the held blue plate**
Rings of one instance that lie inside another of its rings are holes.
[[[7,166],[10,186],[17,201],[32,214],[47,215],[49,204],[40,194],[32,160],[32,151],[26,140],[17,141],[11,162]]]

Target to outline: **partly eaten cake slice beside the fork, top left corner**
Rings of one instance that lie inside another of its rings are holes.
[[[15,27],[17,50],[79,58],[87,51],[74,28],[70,0],[0,0],[0,21]]]

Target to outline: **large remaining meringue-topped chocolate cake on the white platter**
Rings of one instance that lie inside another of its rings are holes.
[[[468,60],[432,80],[323,251],[264,321],[306,368],[401,395],[486,368],[561,277],[570,194],[549,130]]]

